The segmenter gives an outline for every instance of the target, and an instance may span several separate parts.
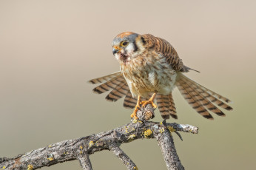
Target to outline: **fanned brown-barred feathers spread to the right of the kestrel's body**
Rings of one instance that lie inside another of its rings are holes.
[[[213,112],[219,116],[225,116],[217,106],[226,110],[232,110],[232,107],[226,104],[231,102],[228,98],[212,92],[212,90],[192,81],[182,73],[178,74],[175,85],[180,90],[183,98],[204,118],[213,119],[209,112]]]

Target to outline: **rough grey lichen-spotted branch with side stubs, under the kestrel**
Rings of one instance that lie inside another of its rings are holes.
[[[137,169],[135,163],[119,146],[141,138],[156,138],[166,162],[167,169],[183,169],[176,153],[171,132],[198,133],[198,128],[178,123],[157,123],[147,121],[154,118],[154,109],[147,105],[138,111],[138,120],[107,132],[93,134],[73,140],[64,140],[36,149],[13,158],[0,158],[0,169],[40,169],[70,160],[79,160],[81,168],[91,170],[90,154],[110,150],[127,166]]]

